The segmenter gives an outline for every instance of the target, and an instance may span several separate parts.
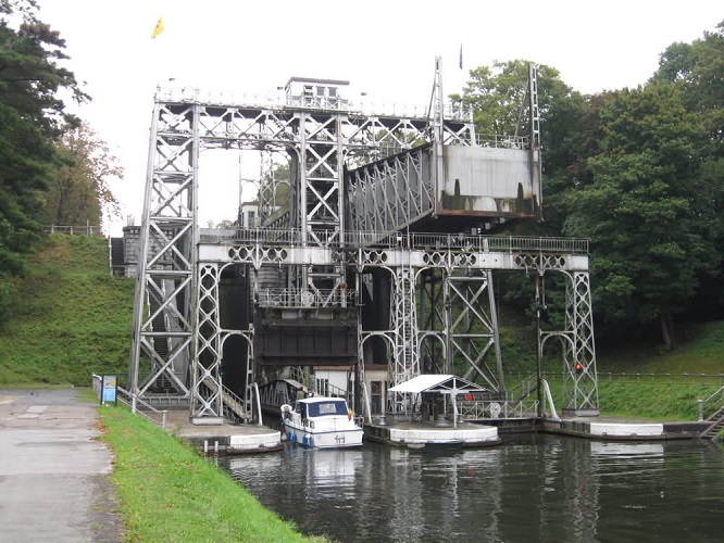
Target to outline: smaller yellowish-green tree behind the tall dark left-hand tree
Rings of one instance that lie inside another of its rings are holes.
[[[92,225],[102,223],[103,214],[117,216],[118,202],[109,181],[122,178],[108,144],[86,124],[68,127],[57,146],[58,163],[53,167],[51,188],[46,194],[45,224]]]

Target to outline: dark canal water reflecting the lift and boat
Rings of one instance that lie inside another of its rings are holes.
[[[487,449],[222,457],[308,535],[339,542],[724,541],[724,449],[708,440],[503,437]]]

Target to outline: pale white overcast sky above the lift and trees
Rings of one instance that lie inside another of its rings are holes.
[[[446,94],[461,91],[469,70],[515,59],[552,66],[575,90],[595,93],[644,84],[669,45],[701,38],[724,20],[721,0],[39,3],[93,99],[77,113],[121,160],[126,178],[113,191],[137,219],[153,93],[170,78],[238,93],[274,91],[291,76],[345,79],[370,101],[427,103],[439,55]],[[165,31],[151,39],[159,16]],[[229,190],[238,198],[238,185]],[[234,218],[234,201],[211,202],[214,216]],[[204,213],[208,203],[202,220]]]

